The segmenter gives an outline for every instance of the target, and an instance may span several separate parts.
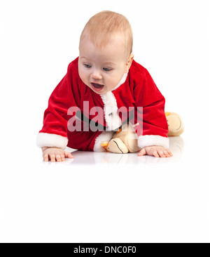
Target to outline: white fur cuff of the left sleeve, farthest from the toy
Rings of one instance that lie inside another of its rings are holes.
[[[38,147],[59,147],[62,149],[66,148],[68,138],[50,133],[38,133],[36,138],[36,145]]]

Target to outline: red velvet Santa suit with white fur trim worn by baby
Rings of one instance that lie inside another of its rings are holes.
[[[80,79],[76,58],[50,95],[37,145],[101,152],[101,143],[127,121],[140,148],[169,147],[165,98],[143,66],[133,60],[118,86],[99,95]]]

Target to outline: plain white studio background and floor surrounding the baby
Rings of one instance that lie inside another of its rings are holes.
[[[209,242],[208,4],[0,1],[0,242]],[[172,159],[78,152],[51,164],[36,147],[50,93],[103,10],[130,20],[134,60],[183,117]]]

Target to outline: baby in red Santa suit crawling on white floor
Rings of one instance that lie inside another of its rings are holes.
[[[133,60],[132,43],[130,23],[119,13],[102,11],[87,22],[79,57],[69,64],[44,113],[37,136],[44,161],[73,158],[66,146],[106,151],[102,143],[126,123],[137,135],[138,156],[172,156],[165,98],[148,71]]]

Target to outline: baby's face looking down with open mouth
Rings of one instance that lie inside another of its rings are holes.
[[[80,79],[95,93],[103,94],[115,88],[128,72],[123,37],[111,39],[104,48],[95,48],[90,39],[80,42],[78,72]]]

